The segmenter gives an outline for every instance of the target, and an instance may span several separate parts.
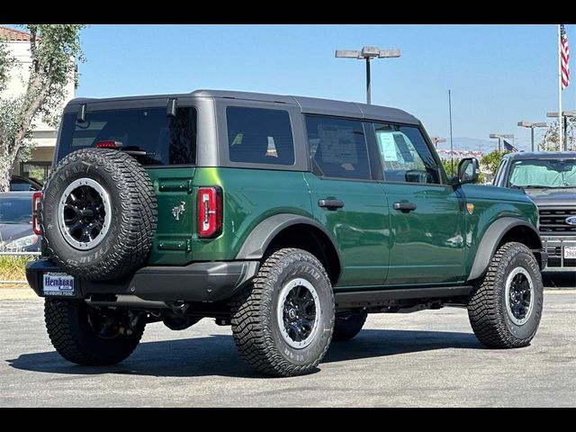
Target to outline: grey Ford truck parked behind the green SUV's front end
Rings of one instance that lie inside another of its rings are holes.
[[[576,151],[509,153],[494,185],[520,189],[536,202],[546,271],[576,270]]]

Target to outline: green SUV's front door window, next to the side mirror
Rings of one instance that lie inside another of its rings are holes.
[[[417,127],[374,123],[384,179],[439,184],[436,160]]]

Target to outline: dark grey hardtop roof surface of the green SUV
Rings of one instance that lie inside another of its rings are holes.
[[[238,99],[244,101],[286,103],[300,106],[302,112],[307,113],[329,113],[348,117],[363,119],[387,120],[401,123],[419,124],[419,120],[408,112],[379,105],[368,105],[366,103],[344,102],[332,99],[320,99],[316,97],[292,96],[285,94],[264,94],[250,92],[235,92],[229,90],[196,90],[192,93],[184,94],[150,94],[145,96],[122,96],[111,98],[76,98],[68,104],[80,104],[90,102],[121,102],[147,99],[169,99],[188,97],[212,97],[217,99]]]

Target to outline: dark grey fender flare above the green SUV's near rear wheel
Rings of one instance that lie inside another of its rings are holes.
[[[336,250],[338,254],[338,261],[342,263],[340,259],[340,252],[338,250],[338,244],[330,234],[329,230],[324,228],[320,222],[307,218],[305,216],[299,216],[292,213],[280,213],[270,216],[269,218],[262,220],[257,224],[255,229],[248,234],[248,237],[244,241],[242,247],[238,251],[236,259],[260,259],[264,257],[266,248],[272,243],[272,240],[281,232],[283,229],[291,227],[293,225],[309,225],[316,229],[320,229],[329,241],[332,243],[332,247]]]

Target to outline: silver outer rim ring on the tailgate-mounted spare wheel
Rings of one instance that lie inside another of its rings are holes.
[[[94,189],[94,191],[98,193],[98,195],[100,195],[104,208],[103,228],[98,233],[96,238],[87,242],[84,241],[80,242],[76,238],[72,237],[69,230],[67,229],[64,217],[64,210],[66,207],[68,196],[75,189],[81,186],[88,186]],[[64,193],[62,193],[62,195],[58,200],[58,229],[60,229],[60,233],[62,234],[62,237],[66,240],[67,244],[78,250],[90,250],[98,246],[100,243],[102,243],[103,239],[106,237],[106,234],[108,233],[108,230],[110,229],[111,221],[112,221],[112,205],[110,203],[110,195],[103,188],[102,184],[99,184],[92,178],[87,177],[78,178],[71,184],[68,184],[66,190],[64,191]]]

